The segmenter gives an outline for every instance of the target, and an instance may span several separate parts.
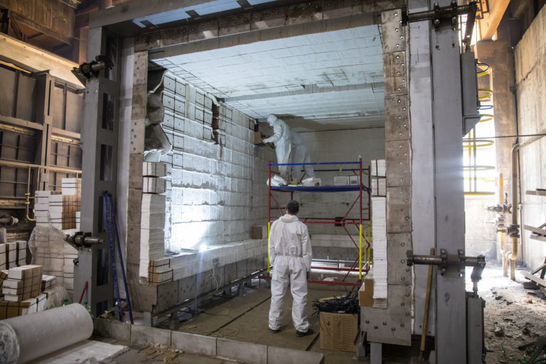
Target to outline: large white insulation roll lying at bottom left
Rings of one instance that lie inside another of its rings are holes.
[[[87,309],[70,304],[0,321],[0,363],[22,364],[90,338]]]

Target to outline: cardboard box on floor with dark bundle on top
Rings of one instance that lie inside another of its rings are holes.
[[[321,349],[355,351],[358,314],[321,312]]]

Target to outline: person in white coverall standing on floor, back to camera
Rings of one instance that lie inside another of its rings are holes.
[[[312,253],[309,231],[296,217],[298,212],[299,203],[291,200],[286,215],[275,221],[269,231],[269,262],[273,266],[269,330],[274,333],[281,331],[284,295],[290,286],[294,299],[292,321],[296,336],[307,336],[313,333],[305,312]]]

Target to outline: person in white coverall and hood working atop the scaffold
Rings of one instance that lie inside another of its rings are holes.
[[[263,139],[264,143],[274,143],[277,153],[277,163],[309,163],[309,154],[297,132],[292,131],[284,120],[274,114],[267,117],[267,123],[273,127],[273,136]],[[302,166],[279,166],[279,172],[284,181],[300,182],[303,177]],[[313,178],[313,166],[303,166],[307,178]],[[286,184],[286,183],[285,183]]]

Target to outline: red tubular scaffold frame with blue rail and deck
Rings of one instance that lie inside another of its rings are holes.
[[[276,171],[272,171],[272,167],[274,166],[341,166],[341,168],[337,169],[315,169],[315,172],[339,172],[339,171],[352,171],[355,176],[358,176],[358,186],[350,185],[350,186],[271,186],[271,178],[272,173],[278,173]],[[346,165],[358,165],[358,168],[343,168],[343,166]],[[363,175],[368,176],[368,186],[364,186],[363,184]],[[347,272],[343,279],[341,281],[333,282],[333,281],[323,281],[323,280],[315,280],[315,279],[309,279],[307,282],[309,283],[316,283],[316,284],[331,284],[331,285],[342,285],[342,286],[352,286],[352,287],[360,287],[362,284],[362,273],[368,272],[370,270],[370,231],[371,231],[371,225],[370,225],[370,205],[371,205],[371,173],[370,173],[370,166],[368,168],[362,167],[362,158],[360,157],[358,161],[354,162],[323,162],[323,163],[300,163],[300,164],[272,164],[269,163],[269,183],[268,183],[268,219],[267,219],[267,276],[260,276],[260,278],[264,279],[271,279],[269,275],[269,230],[271,228],[272,224],[272,217],[271,217],[271,211],[279,209],[281,215],[284,214],[284,207],[279,205],[277,202],[277,199],[273,195],[273,191],[279,191],[279,192],[290,192],[290,199],[294,199],[294,192],[346,192],[346,191],[358,191],[358,196],[355,198],[354,202],[350,205],[347,212],[343,217],[341,218],[300,218],[300,220],[303,223],[306,224],[335,224],[336,226],[342,226],[343,230],[347,232],[348,237],[353,242],[355,247],[358,249],[358,258],[355,259],[353,264],[350,266],[350,268],[346,267],[318,267],[311,265],[311,268],[314,269],[326,269],[326,270],[334,270],[338,272]],[[363,207],[363,192],[368,193],[368,198],[365,201],[365,207]],[[276,205],[275,207],[272,207],[272,202]],[[358,218],[348,218],[348,215],[351,210],[355,207],[355,205],[358,203],[359,205],[359,217]],[[368,212],[368,217],[363,217],[363,210]],[[368,222],[368,225],[365,227],[367,230],[367,236],[366,233],[363,235],[363,222]],[[348,225],[354,225],[356,228],[358,228],[358,244],[355,242],[355,239],[353,238],[353,235],[350,234],[348,230]],[[362,242],[365,242],[364,249]],[[363,256],[364,252],[364,256]],[[363,258],[365,259],[365,262],[363,262]],[[357,267],[358,265],[358,267]],[[347,278],[350,274],[350,272],[358,272],[358,282],[348,282]]]

